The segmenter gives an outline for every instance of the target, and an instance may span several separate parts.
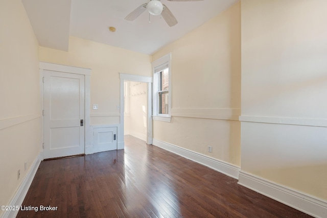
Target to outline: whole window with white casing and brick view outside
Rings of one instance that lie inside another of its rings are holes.
[[[171,55],[152,63],[153,68],[153,119],[170,122],[171,110]]]

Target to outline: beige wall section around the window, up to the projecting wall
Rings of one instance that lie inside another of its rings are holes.
[[[240,14],[237,3],[152,56],[172,53],[172,122],[155,120],[154,138],[238,166]]]

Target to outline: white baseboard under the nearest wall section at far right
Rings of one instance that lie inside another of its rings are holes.
[[[314,217],[327,217],[327,202],[300,191],[240,172],[238,184]]]

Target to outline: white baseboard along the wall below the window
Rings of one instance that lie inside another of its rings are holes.
[[[157,139],[153,139],[152,144],[159,148],[165,149],[167,151],[173,152],[182,157],[185,157],[187,159],[190,159],[197,163],[205,165],[209,168],[215,169],[216,171],[218,171],[222,174],[225,174],[229,177],[232,177],[235,179],[239,178],[240,167],[238,167],[236,165],[226,163],[226,162],[217,160],[215,158],[208,157],[203,154],[199,154],[199,153],[190,151],[188,149],[180,148],[178,146],[174,146],[173,144],[169,144],[167,142],[160,141]]]

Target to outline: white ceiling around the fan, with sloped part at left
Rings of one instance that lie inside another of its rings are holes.
[[[170,2],[161,0],[178,20],[169,27],[160,16],[145,11],[134,21],[124,18],[149,0],[22,0],[41,46],[68,51],[69,35],[144,54],[215,17],[239,0]],[[116,32],[109,32],[115,27]]]

